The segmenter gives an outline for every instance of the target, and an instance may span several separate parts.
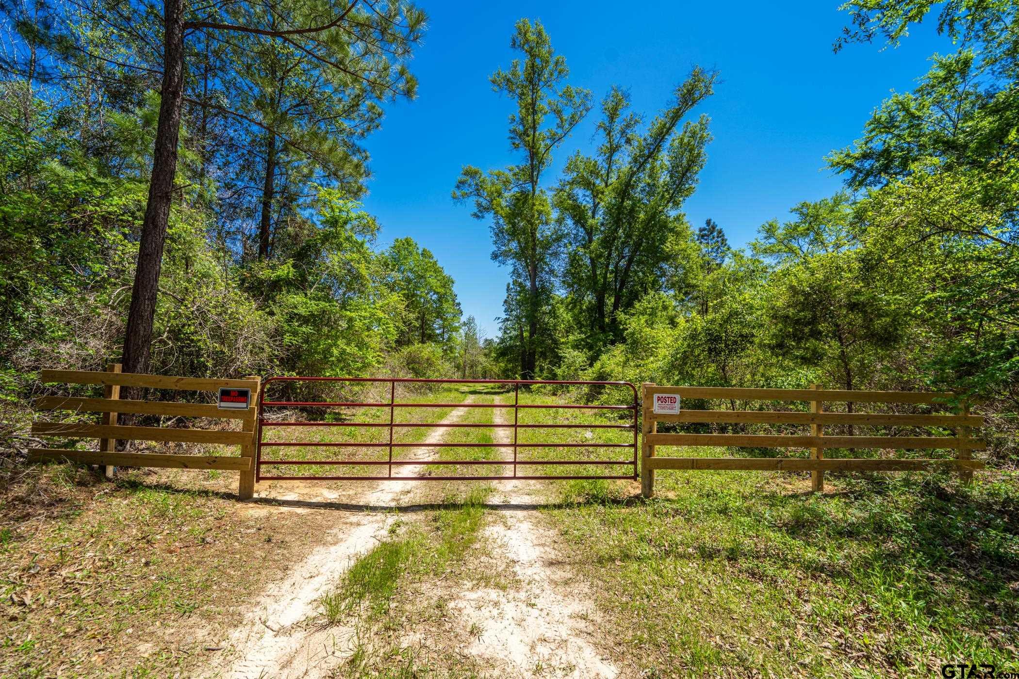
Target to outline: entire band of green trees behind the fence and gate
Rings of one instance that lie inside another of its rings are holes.
[[[592,378],[1019,398],[1015,3],[849,2],[836,49],[936,12],[954,52],[834,151],[842,190],[743,248],[685,202],[719,87],[656,112],[571,82],[521,19],[491,76],[516,161],[452,196],[511,283],[495,340],[358,204],[365,139],[415,96],[422,9],[382,0],[7,0],[0,394],[42,366],[180,375]],[[929,18],[929,17],[928,17]],[[663,93],[664,94],[664,93]],[[595,119],[590,148],[555,155]],[[483,158],[465,159],[483,163]]]

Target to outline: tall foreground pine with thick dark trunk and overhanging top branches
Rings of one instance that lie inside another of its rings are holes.
[[[413,78],[405,59],[420,37],[424,14],[407,2],[373,0],[273,0],[266,3],[231,2],[225,5],[185,5],[183,0],[131,2],[113,0],[81,4],[77,8],[103,23],[129,46],[120,68],[145,73],[159,81],[159,115],[156,124],[149,197],[139,239],[138,266],[123,346],[124,370],[145,372],[151,350],[152,328],[159,287],[159,274],[167,225],[174,194],[178,140],[185,101],[198,103],[260,126],[260,121],[228,106],[212,104],[208,98],[190,96],[194,50],[186,40],[196,34],[214,35],[223,42],[251,39],[259,44],[286,45],[319,67],[333,68],[364,86],[372,97],[383,101],[405,94]],[[158,17],[158,18],[157,18]],[[48,34],[54,54],[86,55],[92,62],[110,59],[91,54],[81,35],[66,31],[65,17],[52,24],[22,22],[22,34]],[[161,18],[161,20],[159,20]],[[237,57],[257,59],[242,50]],[[229,81],[228,73],[218,75]],[[264,125],[261,125],[264,127]],[[267,130],[268,131],[268,130]],[[283,143],[300,142],[282,137]]]

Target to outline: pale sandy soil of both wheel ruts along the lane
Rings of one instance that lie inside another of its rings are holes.
[[[457,408],[450,412],[424,444],[441,443],[449,431],[442,425],[458,421],[467,411]],[[497,423],[506,421],[500,410],[494,412]],[[495,430],[494,436],[498,444],[511,441],[507,430]],[[413,459],[422,460],[435,452],[424,445],[412,450]],[[501,449],[501,455],[512,459],[512,449]],[[404,467],[399,474],[418,474],[421,468]],[[342,502],[382,510],[420,501],[426,493],[422,486],[396,482],[366,485],[359,494],[343,494]],[[502,504],[537,505],[547,494],[547,486],[541,482],[495,482],[493,486],[492,499]],[[314,506],[335,501],[338,495],[312,484],[279,488],[282,492],[273,497],[283,501],[281,506],[261,505],[252,511],[305,511],[303,501]],[[515,583],[506,590],[484,587],[464,591],[458,586],[445,592],[451,595],[449,607],[457,612],[450,617],[451,631],[460,639],[458,653],[473,657],[480,667],[492,668],[487,676],[619,676],[608,654],[595,642],[597,618],[592,598],[587,584],[564,565],[556,531],[546,526],[536,509],[492,512],[491,516],[493,520],[484,528],[486,544],[496,552],[495,559],[513,565]],[[225,637],[224,650],[206,676],[330,676],[354,652],[358,630],[316,623],[317,600],[360,555],[384,539],[394,518],[391,512],[375,510],[345,514],[343,523],[322,547],[290,569],[286,578],[266,588],[245,622]],[[430,634],[438,634],[438,630],[407,630],[401,642],[413,646],[438,641],[430,640]]]

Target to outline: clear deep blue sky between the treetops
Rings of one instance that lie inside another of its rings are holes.
[[[854,45],[834,54],[847,18],[838,0],[420,4],[429,20],[411,64],[418,97],[389,105],[367,140],[373,178],[364,203],[382,225],[381,246],[409,235],[435,253],[457,281],[465,316],[488,337],[497,335],[508,272],[490,259],[488,224],[449,193],[464,165],[516,162],[506,140],[513,103],[488,76],[514,58],[520,17],[544,23],[572,84],[596,102],[612,84],[627,88],[646,118],[693,65],[719,71],[716,94],[695,111],[710,116],[714,140],[685,212],[695,226],[716,221],[736,246],[795,204],[836,191],[841,180],[823,157],[859,137],[890,91],[912,89],[932,53],[952,50],[925,25],[898,49]],[[595,121],[592,112],[558,151],[549,185],[570,154],[592,148]]]

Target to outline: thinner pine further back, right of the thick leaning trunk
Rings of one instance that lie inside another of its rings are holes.
[[[265,20],[275,24],[278,18]],[[314,197],[304,190],[308,183],[342,186],[354,199],[363,193],[368,155],[360,140],[379,127],[382,108],[370,82],[352,78],[338,63],[345,44],[328,61],[261,36],[237,37],[230,47],[227,57],[236,67],[229,113],[240,128],[237,152],[249,162],[239,181],[224,188],[250,186],[239,195],[258,204],[257,251],[265,259],[274,224],[293,218]],[[406,59],[410,49],[410,43],[395,45],[393,55]],[[408,75],[389,90],[413,97],[416,80]]]

